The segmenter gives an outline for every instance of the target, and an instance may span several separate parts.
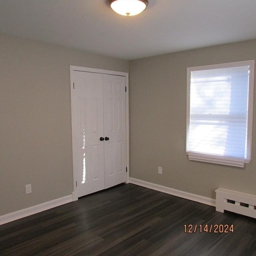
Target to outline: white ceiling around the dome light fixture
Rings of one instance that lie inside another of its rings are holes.
[[[256,0],[148,0],[121,16],[108,0],[0,0],[0,32],[125,60],[256,38]]]

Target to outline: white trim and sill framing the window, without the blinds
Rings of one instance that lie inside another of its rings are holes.
[[[213,64],[206,66],[187,67],[187,97],[186,97],[186,154],[189,160],[200,162],[209,162],[214,164],[223,164],[237,167],[244,167],[252,159],[252,124],[253,124],[253,101],[254,101],[254,64],[255,60],[245,60],[238,62],[228,62],[222,64]],[[249,87],[248,87],[248,120],[247,120],[247,158],[230,158],[226,156],[217,156],[214,154],[203,154],[188,150],[189,126],[190,126],[190,79],[192,71],[209,70],[218,68],[232,68],[238,66],[249,66]]]

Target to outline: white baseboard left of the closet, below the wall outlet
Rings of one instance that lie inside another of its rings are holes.
[[[22,210],[18,210],[16,212],[11,212],[0,216],[0,225],[70,202],[73,202],[72,195],[57,198],[48,202],[44,202],[42,204],[37,204]]]

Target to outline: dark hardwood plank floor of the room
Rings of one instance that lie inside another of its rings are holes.
[[[189,224],[193,233],[184,232]],[[206,224],[234,224],[234,232],[200,233]],[[256,256],[256,220],[121,184],[1,225],[0,255]]]

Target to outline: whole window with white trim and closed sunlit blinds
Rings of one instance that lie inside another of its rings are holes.
[[[187,68],[190,160],[244,167],[251,160],[254,60]]]

